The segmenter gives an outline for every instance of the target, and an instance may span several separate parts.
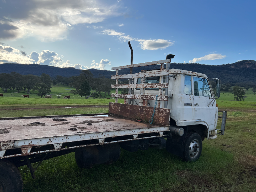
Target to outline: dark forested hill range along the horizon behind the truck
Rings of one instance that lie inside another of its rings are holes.
[[[170,68],[189,70],[206,74],[208,77],[220,78],[223,83],[256,83],[256,61],[243,60],[236,63],[224,65],[204,65],[198,63],[171,63]],[[152,65],[146,67],[133,68],[133,73],[138,73],[140,70],[160,69],[160,65]],[[105,76],[110,78],[115,75],[115,71],[89,69],[94,77]],[[51,77],[60,76],[77,76],[80,74],[79,69],[75,68],[58,68],[47,65],[22,65],[22,64],[1,64],[0,73],[11,73],[12,71],[22,75],[33,74],[40,76],[42,73],[49,74]],[[130,69],[121,69],[119,74],[130,73]]]

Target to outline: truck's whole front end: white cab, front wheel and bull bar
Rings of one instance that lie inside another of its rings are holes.
[[[146,73],[152,71],[144,71]],[[205,138],[212,140],[217,138],[217,134],[224,135],[227,114],[226,111],[219,111],[216,103],[216,99],[220,97],[220,79],[180,69],[169,69],[169,76],[162,78],[135,78],[134,84],[140,84],[141,81],[145,84],[167,83],[166,79],[169,78],[168,93],[165,93],[166,88],[162,92],[158,88],[146,88],[143,91],[145,95],[168,95],[167,108],[170,109],[172,137],[167,138],[166,149],[186,161],[195,161],[201,155],[202,141]],[[140,93],[141,89],[134,89],[133,94]],[[154,107],[156,102],[148,100],[146,106]],[[164,101],[159,102],[158,107],[164,108]],[[134,100],[132,104],[138,105],[139,100]],[[219,112],[223,115],[218,116]],[[216,129],[218,117],[222,118],[220,130]]]

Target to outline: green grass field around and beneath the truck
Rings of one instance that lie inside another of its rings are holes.
[[[53,86],[52,93],[60,94],[63,89],[67,87]],[[31,98],[21,98],[20,93],[15,93],[19,94],[17,97],[11,92],[7,94],[10,97],[0,97],[0,117],[107,113],[108,102],[114,102],[75,96],[41,99],[35,93]],[[225,135],[204,140],[202,155],[194,163],[182,162],[165,149],[135,153],[122,149],[115,163],[80,169],[71,153],[45,160],[36,171],[36,180],[26,166],[20,167],[24,191],[256,191],[256,95],[249,90],[245,101],[233,99],[232,93],[221,93],[219,108],[228,109]]]

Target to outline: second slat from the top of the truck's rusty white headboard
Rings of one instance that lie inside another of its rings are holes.
[[[168,75],[169,71],[148,71],[145,73],[125,74],[125,75],[113,75],[111,79],[130,79],[130,78],[141,78],[141,77],[155,77]]]

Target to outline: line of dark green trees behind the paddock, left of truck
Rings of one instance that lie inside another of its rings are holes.
[[[52,78],[42,73],[41,76],[35,75],[21,75],[16,72],[1,73],[0,74],[0,87],[4,92],[10,90],[17,90],[17,92],[26,92],[27,94],[31,91],[37,91],[37,95],[43,97],[44,95],[51,92],[50,88],[52,85],[63,86],[69,85],[73,89],[70,93],[80,95],[82,98],[85,96],[86,99],[102,98],[103,94],[110,94],[111,84],[115,84],[115,80],[100,76],[94,78],[93,74],[89,70],[82,70],[79,76],[63,77],[57,75]]]

